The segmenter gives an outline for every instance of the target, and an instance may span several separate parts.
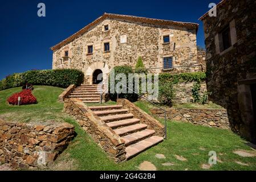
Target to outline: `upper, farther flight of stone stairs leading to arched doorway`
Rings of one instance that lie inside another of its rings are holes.
[[[100,87],[102,92],[107,88],[106,85],[80,85],[76,87],[71,94],[68,96],[69,98],[78,98],[84,103],[96,103],[100,102]],[[104,98],[103,98],[104,102]]]

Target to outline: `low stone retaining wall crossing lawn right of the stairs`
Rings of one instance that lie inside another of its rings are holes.
[[[164,118],[164,112],[162,110],[151,109],[151,112],[158,117]],[[166,109],[166,118],[176,121],[190,122],[195,125],[230,129],[226,109],[169,108]]]

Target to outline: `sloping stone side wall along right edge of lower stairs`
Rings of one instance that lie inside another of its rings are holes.
[[[151,115],[145,113],[145,111],[141,110],[139,107],[134,105],[132,102],[128,101],[125,98],[119,98],[117,100],[117,105],[122,105],[123,109],[128,109],[130,113],[132,113],[135,118],[140,119],[140,123],[146,124],[147,129],[155,130],[156,135],[159,137],[164,137],[165,135],[165,127],[155,118],[151,117]]]

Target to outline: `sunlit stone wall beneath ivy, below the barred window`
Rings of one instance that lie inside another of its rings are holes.
[[[182,104],[186,102],[191,102],[193,100],[192,88],[195,82],[182,82],[173,85],[175,90],[175,97],[173,98],[174,103]],[[201,83],[200,94],[207,92],[206,82]]]

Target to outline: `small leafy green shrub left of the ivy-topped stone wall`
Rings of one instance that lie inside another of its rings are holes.
[[[172,82],[166,82],[159,86],[159,102],[163,105],[172,106],[173,98],[175,97],[175,92]]]

